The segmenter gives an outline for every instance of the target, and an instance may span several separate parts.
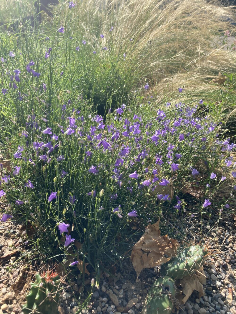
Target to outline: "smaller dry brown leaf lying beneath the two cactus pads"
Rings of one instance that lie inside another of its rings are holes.
[[[183,304],[185,304],[185,302],[188,301],[188,298],[190,297],[194,290],[198,291],[199,298],[205,295],[203,285],[200,283],[198,276],[196,274],[192,276],[185,276],[183,279],[180,279],[180,286],[182,294],[185,295],[182,296]]]

